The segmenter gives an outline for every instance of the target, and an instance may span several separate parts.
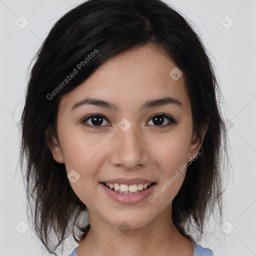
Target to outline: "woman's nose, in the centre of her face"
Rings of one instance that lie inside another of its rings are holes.
[[[143,167],[150,160],[145,135],[135,125],[126,131],[117,127],[110,142],[109,162],[113,166],[133,170]]]

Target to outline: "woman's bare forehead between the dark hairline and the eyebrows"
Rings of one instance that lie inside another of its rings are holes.
[[[70,109],[84,97],[107,100],[127,108],[166,95],[189,107],[184,77],[173,79],[169,74],[173,68],[177,68],[176,64],[156,45],[134,47],[108,59],[82,84],[63,95],[60,108],[65,105]]]

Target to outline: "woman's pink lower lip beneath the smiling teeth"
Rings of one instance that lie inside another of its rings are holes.
[[[156,183],[153,183],[148,188],[143,189],[141,192],[136,194],[121,194],[113,191],[112,189],[110,189],[109,187],[105,186],[102,183],[99,184],[111,198],[121,203],[136,203],[143,200],[151,193],[152,189],[156,185]]]

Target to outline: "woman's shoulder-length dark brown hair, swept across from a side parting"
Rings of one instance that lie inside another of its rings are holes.
[[[71,230],[75,241],[80,242],[90,228],[89,224],[77,225],[86,205],[72,190],[65,165],[54,161],[47,146],[52,134],[57,138],[59,100],[109,58],[148,43],[164,49],[182,70],[193,130],[199,137],[200,128],[209,120],[201,155],[187,167],[184,182],[172,201],[173,223],[188,238],[191,231],[197,230],[199,239],[208,213],[218,208],[221,219],[221,163],[228,159],[227,132],[219,109],[221,93],[213,64],[200,38],[181,14],[160,0],[88,0],[55,23],[38,50],[21,118],[20,164],[34,232],[54,255]],[[98,53],[82,71],[49,97],[77,63],[95,49]],[[28,208],[27,214],[30,216]],[[51,233],[57,237],[56,243]]]

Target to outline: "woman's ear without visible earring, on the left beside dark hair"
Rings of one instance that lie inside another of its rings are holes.
[[[56,136],[54,135],[52,125],[49,125],[45,129],[45,137],[47,141],[47,146],[49,147],[52,153],[53,159],[58,163],[64,163],[63,153],[62,153],[60,144]]]

